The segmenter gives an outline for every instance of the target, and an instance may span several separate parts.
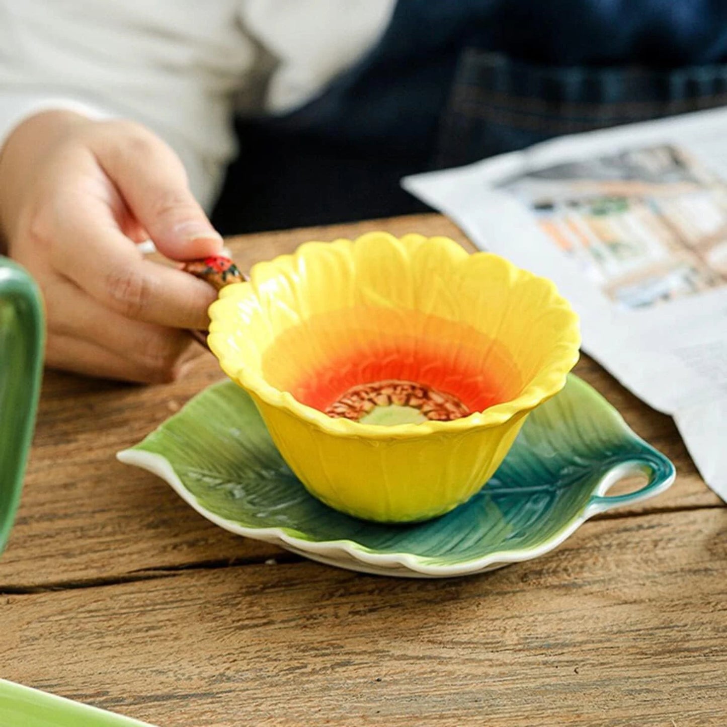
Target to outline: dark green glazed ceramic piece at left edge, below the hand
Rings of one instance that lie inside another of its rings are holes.
[[[0,257],[0,553],[20,501],[33,438],[43,337],[36,284],[20,265]]]

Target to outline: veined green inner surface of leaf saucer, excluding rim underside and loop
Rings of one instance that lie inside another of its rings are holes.
[[[231,523],[443,566],[539,547],[582,515],[612,468],[645,452],[658,455],[572,375],[530,415],[478,494],[414,525],[359,521],[308,494],[278,454],[252,399],[232,382],[209,387],[134,449],[164,456],[198,504]]]

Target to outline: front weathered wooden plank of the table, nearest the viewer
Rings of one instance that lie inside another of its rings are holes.
[[[481,577],[301,562],[0,598],[4,677],[166,727],[727,723],[727,510]]]

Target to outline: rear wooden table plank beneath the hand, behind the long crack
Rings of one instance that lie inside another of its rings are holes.
[[[247,268],[306,240],[353,237],[372,229],[444,234],[467,244],[451,222],[424,215],[252,235],[236,238],[230,247]],[[577,373],[678,467],[677,483],[667,494],[619,513],[719,505],[696,473],[670,417],[649,409],[588,358]],[[212,526],[162,481],[114,458],[221,376],[212,356],[185,380],[156,387],[48,372],[20,511],[0,558],[0,590],[105,582],[140,571],[261,562],[276,555],[273,547]]]

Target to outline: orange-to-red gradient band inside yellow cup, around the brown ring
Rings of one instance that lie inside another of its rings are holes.
[[[369,308],[365,316],[353,308],[312,316],[276,338],[262,358],[262,374],[318,411],[352,387],[390,379],[453,395],[470,412],[509,401],[523,387],[502,342],[458,321],[385,308]]]

